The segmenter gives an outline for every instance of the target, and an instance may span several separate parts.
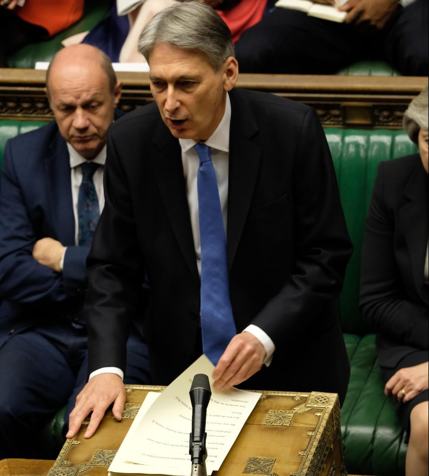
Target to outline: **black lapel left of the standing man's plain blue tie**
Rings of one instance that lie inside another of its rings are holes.
[[[199,282],[180,144],[161,120],[153,144],[151,159],[158,188],[180,250],[195,281]]]

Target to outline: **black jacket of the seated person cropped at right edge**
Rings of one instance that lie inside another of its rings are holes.
[[[428,350],[427,245],[428,174],[420,156],[381,162],[363,241],[360,306],[377,331],[384,367]]]

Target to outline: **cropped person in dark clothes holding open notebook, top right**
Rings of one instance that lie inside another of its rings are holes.
[[[428,76],[428,0],[348,0],[339,9],[347,13],[342,23],[271,8],[236,42],[240,71],[334,74],[382,60],[401,74]]]

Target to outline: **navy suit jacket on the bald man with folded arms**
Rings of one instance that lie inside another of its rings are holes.
[[[89,247],[75,246],[66,141],[56,122],[7,141],[0,186],[0,346],[49,318],[79,317]],[[32,257],[51,237],[68,247],[57,273]]]

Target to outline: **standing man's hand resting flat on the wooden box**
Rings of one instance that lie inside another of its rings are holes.
[[[118,375],[105,373],[92,377],[76,398],[76,405],[69,417],[67,438],[73,438],[82,422],[92,411],[84,438],[90,438],[98,428],[105,411],[113,404],[113,416],[120,421],[125,404],[125,387]]]

